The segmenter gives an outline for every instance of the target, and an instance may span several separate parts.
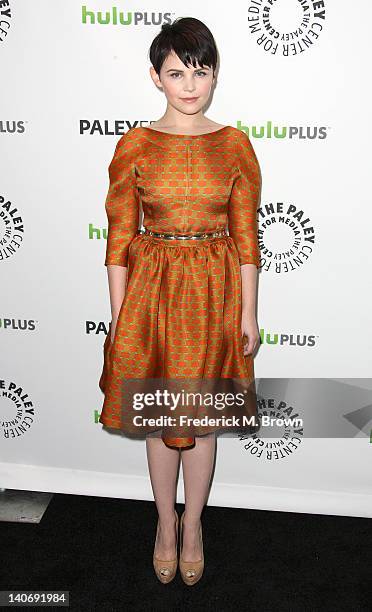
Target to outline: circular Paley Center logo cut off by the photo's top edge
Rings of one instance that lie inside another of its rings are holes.
[[[248,28],[269,55],[300,55],[317,43],[325,24],[325,0],[251,0]]]

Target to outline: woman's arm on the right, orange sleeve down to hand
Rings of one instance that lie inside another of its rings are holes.
[[[242,282],[242,335],[247,336],[244,354],[259,341],[256,321],[257,270],[260,251],[257,238],[257,208],[261,195],[260,167],[252,144],[244,132],[237,134],[237,169],[229,202],[229,234],[237,247]]]

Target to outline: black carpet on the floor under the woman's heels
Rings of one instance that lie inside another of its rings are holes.
[[[82,612],[372,610],[370,519],[206,506],[192,587],[156,578],[156,520],[153,502],[55,495],[40,524],[0,523],[0,589],[70,591]]]

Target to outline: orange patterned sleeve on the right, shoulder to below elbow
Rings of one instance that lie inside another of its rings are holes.
[[[260,267],[257,236],[257,208],[261,193],[260,166],[250,139],[237,131],[236,169],[229,200],[228,228],[233,238],[239,263]]]

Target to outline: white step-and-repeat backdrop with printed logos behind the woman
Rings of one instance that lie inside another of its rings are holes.
[[[261,166],[255,371],[262,416],[282,418],[218,437],[208,503],[372,516],[372,7],[356,4],[0,1],[0,486],[152,499],[145,442],[98,422],[104,202],[118,139],[165,110],[151,41],[193,16],[220,53],[206,114]]]

